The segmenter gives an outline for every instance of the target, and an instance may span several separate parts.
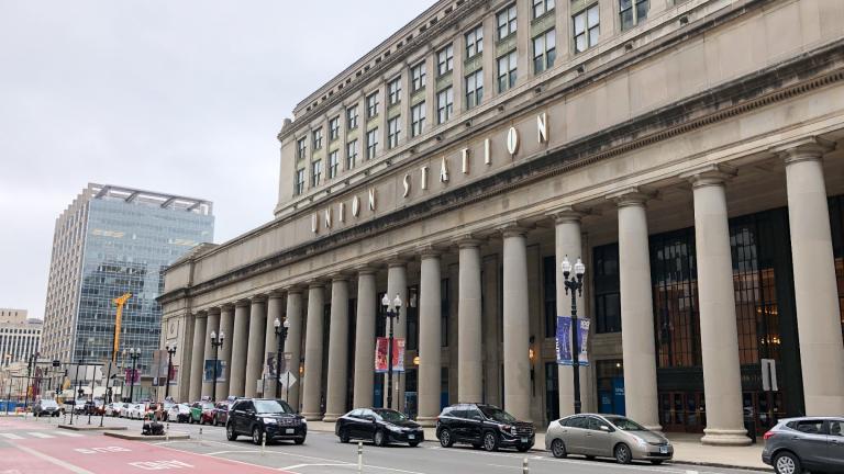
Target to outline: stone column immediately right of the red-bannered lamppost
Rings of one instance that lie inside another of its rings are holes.
[[[440,415],[442,372],[442,306],[440,253],[422,250],[419,284],[419,416],[422,426],[435,426]],[[480,399],[480,398],[478,398]]]

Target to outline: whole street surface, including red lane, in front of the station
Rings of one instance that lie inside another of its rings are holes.
[[[82,417],[82,425],[87,417]],[[99,425],[99,419],[92,424]],[[127,426],[140,432],[141,422],[106,419],[106,426]],[[201,429],[201,436],[200,436]],[[292,442],[262,447],[245,437],[226,441],[221,427],[170,424],[171,431],[189,432],[189,441],[137,442],[106,438],[99,432],[71,432],[56,428],[56,419],[23,421],[0,417],[0,474],[30,473],[120,473],[169,471],[212,473],[264,473],[274,471],[298,474],[356,473],[357,444],[340,443],[333,433],[311,431],[303,445]],[[63,432],[64,431],[64,432]],[[59,441],[59,442],[57,442]],[[111,451],[110,451],[111,450]],[[531,474],[748,474],[737,471],[680,464],[618,465],[611,461],[582,458],[557,460],[540,451],[487,453],[471,448],[443,449],[425,442],[418,448],[395,445],[376,448],[364,443],[363,472],[376,474],[489,474],[522,473],[526,459]],[[45,458],[46,456],[46,458]],[[98,462],[95,463],[93,459]],[[37,462],[46,462],[41,470]],[[29,464],[27,464],[29,463]],[[64,463],[64,464],[63,464]],[[155,464],[159,463],[159,464]],[[163,463],[163,464],[160,464]],[[170,463],[170,464],[168,464]]]

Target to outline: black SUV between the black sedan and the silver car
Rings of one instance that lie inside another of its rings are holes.
[[[535,432],[533,424],[519,421],[493,405],[452,405],[436,419],[436,438],[443,448],[458,442],[487,451],[514,447],[525,452],[533,447]]]

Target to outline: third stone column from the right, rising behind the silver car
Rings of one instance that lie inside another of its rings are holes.
[[[626,415],[647,429],[660,431],[647,241],[647,196],[625,190],[610,196],[619,206],[619,286],[621,298],[624,406]],[[707,404],[709,405],[709,404]]]

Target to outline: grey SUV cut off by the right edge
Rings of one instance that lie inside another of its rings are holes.
[[[778,474],[844,472],[844,417],[781,419],[764,439],[762,462]]]

